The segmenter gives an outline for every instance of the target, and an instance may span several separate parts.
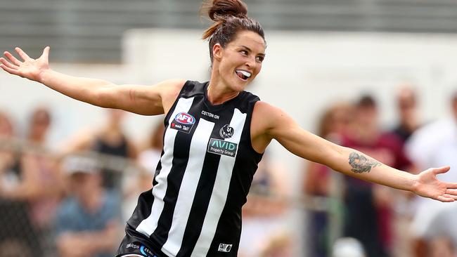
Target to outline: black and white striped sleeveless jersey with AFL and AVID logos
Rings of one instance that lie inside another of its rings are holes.
[[[250,139],[259,98],[243,91],[212,105],[208,84],[187,81],[169,110],[153,189],[127,222],[167,256],[237,256],[241,207],[262,159]]]

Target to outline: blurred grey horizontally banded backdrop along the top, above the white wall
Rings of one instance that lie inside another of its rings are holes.
[[[200,0],[2,0],[0,48],[33,56],[53,46],[58,62],[120,62],[133,28],[202,29]],[[246,0],[265,29],[342,32],[457,33],[451,0]]]

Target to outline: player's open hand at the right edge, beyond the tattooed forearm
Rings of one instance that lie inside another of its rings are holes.
[[[438,180],[437,175],[449,171],[449,166],[427,169],[417,176],[414,192],[421,197],[429,197],[441,202],[457,200],[457,183]]]

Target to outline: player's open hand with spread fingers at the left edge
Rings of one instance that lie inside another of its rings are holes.
[[[14,50],[22,58],[22,61],[5,51],[5,58],[0,58],[0,67],[6,72],[39,81],[41,73],[49,70],[49,46],[44,48],[43,54],[38,59],[30,58],[21,48],[16,47]]]

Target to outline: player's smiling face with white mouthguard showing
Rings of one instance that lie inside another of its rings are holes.
[[[231,91],[243,91],[262,69],[265,41],[256,32],[243,30],[225,48],[214,45],[213,55],[212,80]]]

